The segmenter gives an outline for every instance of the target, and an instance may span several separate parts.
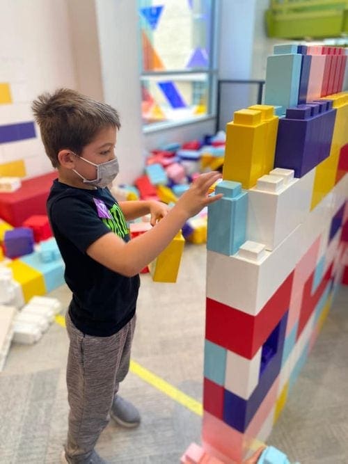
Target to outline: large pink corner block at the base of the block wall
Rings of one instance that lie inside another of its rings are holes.
[[[245,433],[233,429],[221,419],[217,419],[204,411],[202,427],[204,449],[226,464],[235,464],[235,461],[242,461],[253,441],[257,439],[258,433],[276,403],[278,387],[279,376],[269,389],[266,397],[264,397]]]

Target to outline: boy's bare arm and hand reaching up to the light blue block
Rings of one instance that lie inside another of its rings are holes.
[[[168,246],[189,217],[222,197],[207,196],[209,186],[219,177],[214,172],[200,175],[171,211],[145,234],[125,243],[110,232],[92,243],[86,253],[111,271],[129,277],[136,275]]]

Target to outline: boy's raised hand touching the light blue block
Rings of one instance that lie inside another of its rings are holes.
[[[187,218],[196,216],[201,209],[210,203],[214,203],[223,197],[222,193],[208,196],[209,187],[221,178],[221,173],[212,171],[201,174],[191,184],[189,190],[182,194],[175,207],[180,208],[187,215]]]

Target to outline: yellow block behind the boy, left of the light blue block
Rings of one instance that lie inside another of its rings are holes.
[[[7,266],[13,270],[13,278],[22,286],[26,303],[35,295],[46,294],[45,279],[42,273],[19,259],[14,259]]]

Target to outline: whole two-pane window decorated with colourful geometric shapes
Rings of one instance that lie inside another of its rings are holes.
[[[212,116],[214,0],[139,0],[144,131]]]

